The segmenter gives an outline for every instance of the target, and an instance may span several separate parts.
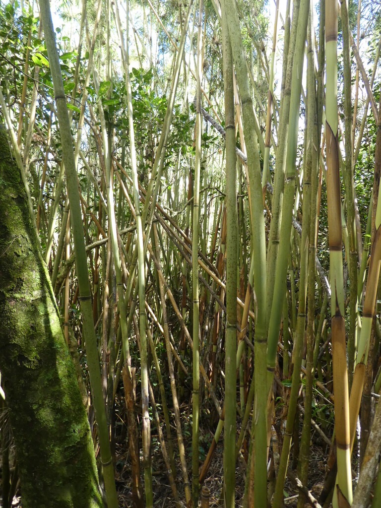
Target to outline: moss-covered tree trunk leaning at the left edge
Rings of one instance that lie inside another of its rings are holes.
[[[93,444],[21,173],[0,126],[0,370],[25,508],[103,506]]]

